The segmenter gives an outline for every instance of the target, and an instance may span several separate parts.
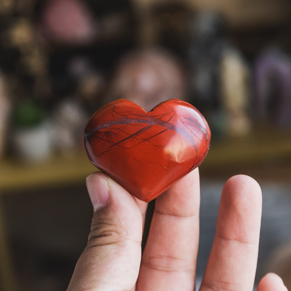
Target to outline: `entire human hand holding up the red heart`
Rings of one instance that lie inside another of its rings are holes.
[[[198,168],[156,198],[141,257],[147,203],[101,172],[86,180],[94,207],[88,244],[67,291],[195,290],[199,241]],[[230,178],[222,191],[216,235],[200,291],[252,291],[258,257],[262,194],[252,178]],[[267,274],[258,291],[286,291]]]

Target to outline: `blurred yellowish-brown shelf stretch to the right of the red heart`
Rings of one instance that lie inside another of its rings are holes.
[[[291,132],[264,128],[245,138],[213,140],[199,168],[205,178],[246,174],[259,181],[291,182]]]

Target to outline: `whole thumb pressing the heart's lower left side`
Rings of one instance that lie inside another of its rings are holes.
[[[94,208],[91,232],[67,291],[132,290],[141,261],[136,200],[101,172],[88,176],[86,185]]]

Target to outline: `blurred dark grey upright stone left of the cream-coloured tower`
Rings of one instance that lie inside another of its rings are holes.
[[[194,105],[206,110],[219,107],[219,65],[229,48],[217,13],[203,12],[189,24],[189,94]]]

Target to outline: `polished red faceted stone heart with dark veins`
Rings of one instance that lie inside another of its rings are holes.
[[[203,161],[210,129],[191,104],[171,99],[146,112],[125,99],[90,118],[84,141],[90,161],[143,201],[151,201]]]

